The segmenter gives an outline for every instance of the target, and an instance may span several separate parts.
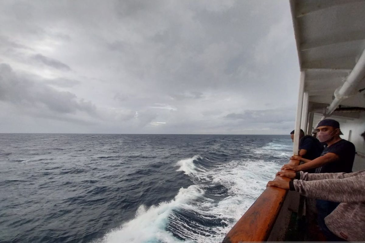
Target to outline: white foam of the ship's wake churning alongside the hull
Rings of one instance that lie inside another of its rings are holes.
[[[272,144],[274,145],[274,144]],[[277,150],[270,145],[262,153],[268,155]],[[279,151],[277,151],[279,152]],[[283,153],[283,152],[281,152]],[[283,153],[283,157],[287,154]],[[246,212],[255,199],[264,191],[267,181],[273,179],[280,166],[275,161],[263,160],[233,160],[214,169],[203,169],[194,163],[199,155],[177,162],[177,171],[184,171],[191,177],[195,185],[181,188],[176,197],[169,202],[146,208],[139,207],[136,216],[124,223],[120,228],[106,234],[101,242],[132,242],[132,243],[218,243],[233,227],[234,223]],[[228,189],[227,197],[212,200],[204,197],[201,188],[208,185],[223,185]],[[199,200],[196,200],[198,199]],[[221,219],[227,227],[203,226],[197,222],[189,225],[177,216],[173,210],[185,209],[194,212],[200,218],[207,220]],[[175,234],[185,239],[181,241],[166,230],[167,225],[173,226]]]

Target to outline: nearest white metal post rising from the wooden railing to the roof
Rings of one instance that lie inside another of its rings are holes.
[[[304,97],[304,79],[306,75],[304,71],[300,72],[299,81],[299,95],[297,103],[297,113],[295,117],[295,129],[294,129],[294,145],[293,154],[298,155],[299,150],[299,135],[300,135],[300,122],[301,122],[301,112],[303,110],[303,97]]]

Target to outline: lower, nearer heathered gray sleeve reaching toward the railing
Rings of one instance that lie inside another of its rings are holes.
[[[365,175],[344,179],[294,180],[293,185],[295,191],[310,198],[339,203],[365,202]]]

